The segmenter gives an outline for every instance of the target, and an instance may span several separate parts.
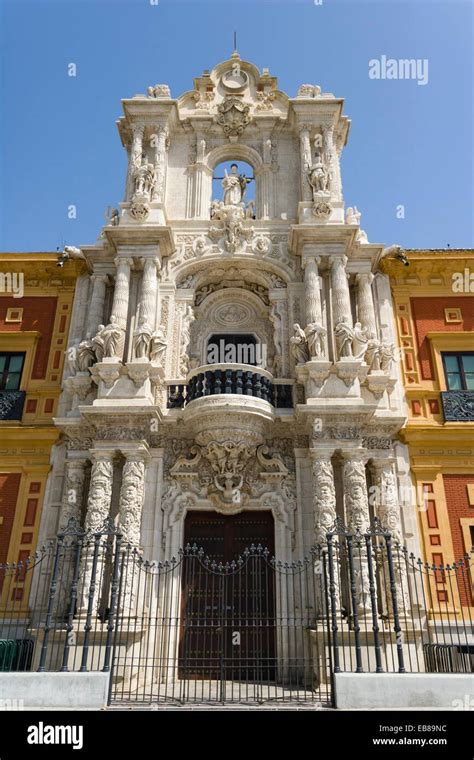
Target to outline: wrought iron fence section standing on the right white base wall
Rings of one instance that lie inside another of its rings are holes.
[[[327,536],[334,671],[474,671],[473,562],[417,559],[375,520]]]

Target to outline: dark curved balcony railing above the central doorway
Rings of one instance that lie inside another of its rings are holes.
[[[187,384],[168,386],[168,408],[182,409],[198,398],[227,393],[261,398],[277,409],[293,408],[293,386],[274,383],[269,372],[250,365],[212,366],[195,370]]]

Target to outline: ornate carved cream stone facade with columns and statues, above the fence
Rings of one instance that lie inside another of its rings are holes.
[[[162,560],[188,510],[265,509],[281,560],[336,516],[378,515],[417,553],[383,246],[342,195],[343,100],[290,98],[236,53],[194,83],[123,101],[125,197],[81,248],[42,538],[111,516]],[[253,168],[253,207],[233,180],[213,198],[232,161]],[[208,364],[210,336],[239,333],[264,365]]]

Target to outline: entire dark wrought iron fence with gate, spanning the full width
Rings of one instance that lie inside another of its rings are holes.
[[[111,523],[71,523],[0,566],[0,670],[110,671],[115,702],[326,705],[340,671],[473,672],[473,578],[471,555],[429,565],[378,522],[226,564],[197,546],[149,562]]]

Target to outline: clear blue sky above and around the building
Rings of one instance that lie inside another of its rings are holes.
[[[234,29],[242,58],[290,96],[309,82],[346,99],[344,197],[369,240],[472,247],[472,11],[461,0],[4,0],[0,250],[92,243],[122,200],[120,99],[162,82],[173,96],[192,89],[229,57]],[[428,84],[370,79],[382,55],[427,58]]]

